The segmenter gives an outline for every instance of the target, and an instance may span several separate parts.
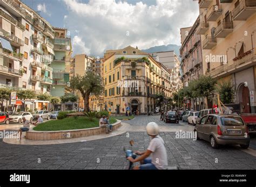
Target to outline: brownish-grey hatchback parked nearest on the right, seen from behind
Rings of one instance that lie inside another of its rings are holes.
[[[197,139],[204,139],[213,148],[219,145],[240,145],[248,148],[250,136],[242,118],[234,114],[206,114],[194,128]]]

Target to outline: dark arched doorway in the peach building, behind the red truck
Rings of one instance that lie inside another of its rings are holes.
[[[242,113],[251,113],[250,106],[250,90],[248,87],[245,87],[244,84],[240,85],[238,90],[239,103],[241,104]]]

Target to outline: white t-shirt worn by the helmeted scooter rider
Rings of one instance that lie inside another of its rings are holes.
[[[156,138],[150,141],[150,145],[147,149],[152,152],[151,163],[154,164],[157,169],[167,169],[168,160],[164,140],[160,136],[156,136]]]

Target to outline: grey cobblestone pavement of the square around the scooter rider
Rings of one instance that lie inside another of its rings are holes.
[[[132,126],[159,122],[159,116],[139,116],[125,121]],[[138,125],[137,125],[138,124]],[[160,122],[160,126],[165,123]],[[167,124],[174,125],[174,124]],[[186,124],[175,124],[180,127]],[[256,157],[239,146],[213,149],[210,143],[192,139],[176,139],[174,132],[161,132],[166,143],[169,166],[180,169],[256,169]],[[110,138],[59,145],[9,145],[0,140],[0,169],[126,169],[123,147],[134,140],[133,150],[144,150],[150,138],[143,132],[129,131]],[[40,162],[39,162],[40,161]],[[217,163],[216,163],[217,162]]]

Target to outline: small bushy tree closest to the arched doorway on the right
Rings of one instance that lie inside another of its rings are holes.
[[[218,85],[217,92],[219,93],[220,100],[223,104],[233,103],[235,88],[230,81]]]

